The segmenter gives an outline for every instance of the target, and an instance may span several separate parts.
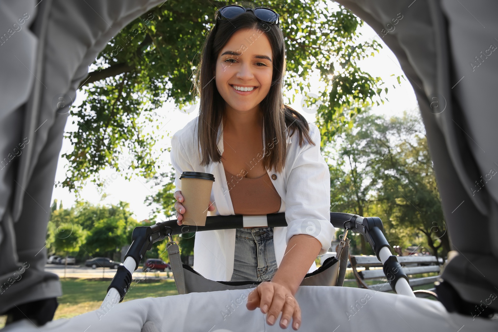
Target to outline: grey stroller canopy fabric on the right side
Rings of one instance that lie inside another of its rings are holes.
[[[498,294],[498,2],[337,1],[375,30],[415,91],[457,253],[442,278],[481,304]]]

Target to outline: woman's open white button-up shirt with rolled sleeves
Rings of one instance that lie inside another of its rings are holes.
[[[215,181],[210,200],[216,209],[208,212],[208,215],[235,215],[223,163],[212,162],[208,166],[200,165],[200,152],[196,151],[198,118],[189,121],[171,138],[170,158],[176,172],[175,191],[181,190],[182,172],[211,173]],[[329,167],[320,154],[320,131],[314,123],[308,122],[308,124],[310,137],[316,145],[313,146],[305,141],[300,147],[297,129],[291,137],[287,133],[287,154],[282,172],[266,170],[282,199],[278,213],[285,212],[287,221],[286,227],[273,228],[277,268],[293,235],[309,234],[317,238],[322,244],[318,255],[323,255],[328,251],[334,236],[335,229],[330,223]],[[264,145],[264,123],[262,132]],[[277,139],[272,142],[280,143]],[[223,121],[218,128],[217,144],[219,151],[223,153]],[[262,160],[266,150],[267,147],[264,146],[263,154],[257,156],[258,160]],[[236,229],[197,232],[194,241],[195,270],[211,280],[230,281],[234,271],[235,232]],[[299,262],[295,263],[299,264]],[[313,262],[308,273],[316,268]]]

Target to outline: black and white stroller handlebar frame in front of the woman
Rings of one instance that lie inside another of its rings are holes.
[[[389,243],[387,242],[383,230],[382,221],[378,217],[361,217],[358,215],[331,212],[330,222],[335,228],[344,228],[363,234],[365,240],[371,245],[377,258],[382,262],[383,272],[391,286],[397,294],[415,297],[408,284],[408,277],[403,272],[396,256],[391,254]],[[196,231],[231,229],[242,227],[285,227],[285,213],[275,213],[261,216],[208,216],[205,226],[178,225],[177,220],[158,222],[151,226],[138,226],[133,229],[132,242],[126,252],[124,263],[120,266],[108,288],[108,293],[101,305],[106,308],[109,305],[122,302],[131,284],[133,271],[138,268],[145,252],[152,248],[152,244],[169,237],[171,235],[185,234]],[[174,243],[174,242],[173,242]],[[179,251],[175,252],[179,261]],[[168,254],[171,256],[170,250]],[[340,257],[337,257],[338,259]],[[347,259],[347,258],[346,258]],[[171,261],[171,259],[170,259]],[[171,262],[175,264],[175,262]],[[181,262],[176,262],[181,266]],[[182,280],[181,282],[184,282]],[[178,288],[178,281],[175,277]]]

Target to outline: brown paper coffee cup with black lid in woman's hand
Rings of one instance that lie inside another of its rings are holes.
[[[180,180],[184,199],[182,205],[185,207],[182,224],[205,226],[215,177],[209,173],[183,172]]]

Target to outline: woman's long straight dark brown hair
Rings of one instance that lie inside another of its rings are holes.
[[[244,1],[236,2],[244,7],[255,6]],[[214,74],[216,61],[232,35],[242,29],[255,29],[258,34],[264,33],[268,38],[273,52],[273,73],[271,87],[266,97],[259,103],[259,109],[263,114],[264,139],[263,146],[266,152],[263,156],[263,166],[274,169],[280,173],[285,164],[286,156],[286,131],[292,129],[299,132],[299,146],[302,146],[304,138],[315,145],[309,135],[308,121],[299,112],[283,104],[283,76],[286,68],[286,47],[283,33],[275,24],[259,21],[252,12],[243,13],[232,20],[220,19],[218,23],[208,32],[206,41],[202,46],[202,55],[199,66],[195,70],[195,87],[200,96],[199,118],[197,124],[198,147],[201,153],[201,165],[207,166],[211,162],[221,162],[221,153],[217,147],[218,127],[223,120],[225,100],[222,98]],[[257,34],[254,34],[257,38]],[[249,46],[249,45],[246,45]],[[200,72],[200,75],[199,75]],[[198,79],[198,82],[197,82]],[[289,135],[289,136],[290,136]],[[275,143],[276,139],[276,143]],[[275,143],[274,145],[271,142]],[[284,144],[278,144],[283,142]],[[269,145],[273,145],[268,149]]]

